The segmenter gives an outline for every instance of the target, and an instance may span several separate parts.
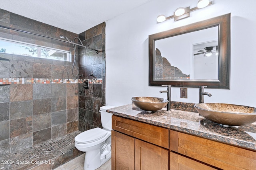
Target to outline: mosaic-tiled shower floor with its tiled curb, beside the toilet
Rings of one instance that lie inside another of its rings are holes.
[[[83,153],[74,146],[74,138],[79,133],[81,132],[75,131],[20,152],[2,156],[0,160],[8,164],[0,164],[0,170],[56,168]]]

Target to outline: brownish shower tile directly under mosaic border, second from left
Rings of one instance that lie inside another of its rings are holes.
[[[32,84],[11,84],[10,85],[10,102],[32,100]]]

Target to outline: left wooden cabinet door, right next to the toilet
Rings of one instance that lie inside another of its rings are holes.
[[[112,170],[134,170],[134,138],[112,131]]]

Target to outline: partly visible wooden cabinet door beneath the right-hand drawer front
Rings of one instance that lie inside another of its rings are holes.
[[[210,166],[170,152],[170,170],[216,170]]]

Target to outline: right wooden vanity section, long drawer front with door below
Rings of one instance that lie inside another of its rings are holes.
[[[170,130],[170,170],[214,168],[256,170],[256,152]]]

